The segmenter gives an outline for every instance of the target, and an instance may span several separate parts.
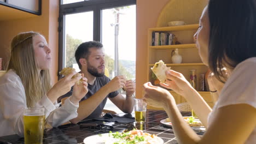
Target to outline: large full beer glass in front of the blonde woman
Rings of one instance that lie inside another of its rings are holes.
[[[45,114],[42,107],[24,109],[24,138],[26,143],[43,143]]]

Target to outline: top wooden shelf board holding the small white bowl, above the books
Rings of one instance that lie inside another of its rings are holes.
[[[156,28],[149,28],[149,31],[189,31],[189,30],[195,30],[198,27],[199,27],[199,24],[172,26],[172,27],[156,27]]]

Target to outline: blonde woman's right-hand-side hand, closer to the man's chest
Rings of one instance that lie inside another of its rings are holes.
[[[84,76],[84,74],[82,74]],[[73,94],[70,97],[70,100],[73,104],[78,104],[79,101],[88,93],[88,83],[86,77],[83,77],[83,82],[78,85],[75,83],[73,88]]]

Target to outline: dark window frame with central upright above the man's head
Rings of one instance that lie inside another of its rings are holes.
[[[136,0],[85,0],[69,4],[62,4],[62,0],[59,0],[59,4],[59,72],[57,75],[60,79],[60,71],[65,65],[65,15],[94,11],[93,40],[102,42],[102,9],[136,5]]]

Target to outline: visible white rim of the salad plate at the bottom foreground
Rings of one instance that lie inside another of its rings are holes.
[[[96,144],[96,143],[102,143],[102,144],[112,144],[115,142],[115,139],[108,136],[109,133],[100,134],[100,135],[92,135],[88,136],[84,139],[85,144]],[[156,137],[158,139],[157,144],[163,144],[164,140],[162,140],[160,137]]]

